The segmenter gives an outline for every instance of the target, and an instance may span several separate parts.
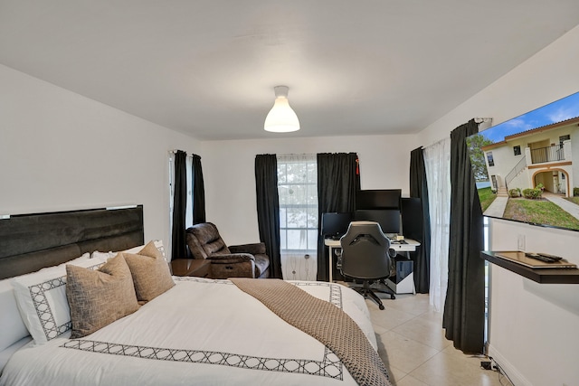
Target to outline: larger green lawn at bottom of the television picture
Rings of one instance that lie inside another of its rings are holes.
[[[553,225],[579,231],[579,220],[547,200],[509,198],[503,217],[517,221]]]

